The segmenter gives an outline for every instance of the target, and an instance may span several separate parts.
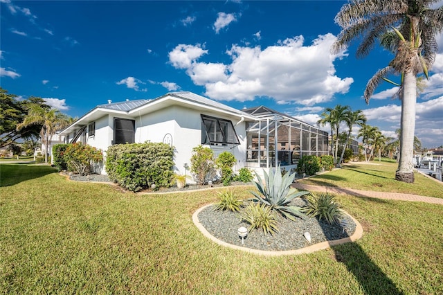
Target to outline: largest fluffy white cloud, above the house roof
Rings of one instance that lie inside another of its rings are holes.
[[[268,96],[278,103],[314,105],[347,93],[352,78],[338,78],[334,61],[346,56],[330,53],[332,34],[320,35],[303,46],[302,36],[279,41],[262,50],[259,46],[233,45],[226,53],[230,64],[198,62],[208,53],[201,46],[180,44],[169,53],[170,63],[186,73],[195,84],[206,87],[206,96],[216,100],[253,100]]]

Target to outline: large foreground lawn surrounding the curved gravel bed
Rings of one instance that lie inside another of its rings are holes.
[[[363,225],[361,240],[263,257],[219,246],[192,223],[215,190],[138,195],[67,181],[48,166],[0,168],[5,294],[443,293],[443,208],[435,204],[340,195]],[[229,188],[242,198],[249,189]]]

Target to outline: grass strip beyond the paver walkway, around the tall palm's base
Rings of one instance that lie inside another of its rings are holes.
[[[341,169],[332,170],[309,179],[301,184],[314,186],[336,186],[358,190],[375,190],[390,193],[408,193],[428,197],[443,198],[443,182],[434,181],[415,172],[413,184],[395,180],[397,163],[395,160],[370,161],[369,163],[350,163]]]

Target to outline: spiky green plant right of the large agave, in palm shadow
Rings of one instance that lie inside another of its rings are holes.
[[[336,202],[335,196],[330,193],[320,193],[316,195],[311,193],[306,195],[307,206],[302,208],[302,212],[311,217],[318,217],[318,220],[323,218],[329,223],[338,223],[343,217],[343,211],[340,205]]]

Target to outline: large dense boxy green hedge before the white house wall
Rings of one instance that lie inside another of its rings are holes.
[[[168,187],[174,177],[174,148],[165,143],[129,143],[108,148],[106,171],[111,181],[136,192]]]

